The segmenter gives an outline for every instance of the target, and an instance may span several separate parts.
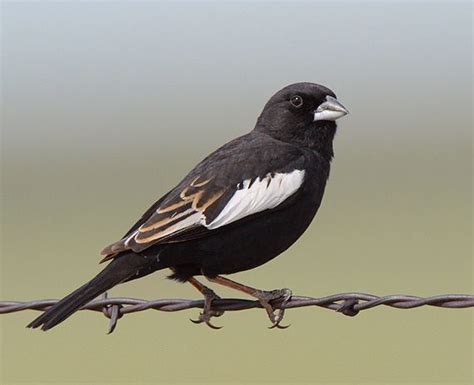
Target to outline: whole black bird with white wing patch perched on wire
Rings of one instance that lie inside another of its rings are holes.
[[[253,269],[288,249],[306,230],[323,197],[333,158],[335,120],[348,111],[328,88],[291,84],[273,95],[255,128],[207,156],[119,241],[95,278],[63,298],[28,327],[51,329],[113,286],[170,268],[205,298],[196,322],[211,327],[219,298],[195,276],[257,298],[273,327],[272,301],[289,289],[263,291],[224,278]],[[274,302],[273,302],[274,303]]]

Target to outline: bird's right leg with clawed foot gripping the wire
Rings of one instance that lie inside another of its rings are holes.
[[[277,289],[277,290],[259,290],[255,289],[250,286],[243,285],[241,283],[232,281],[228,278],[224,278],[221,276],[217,276],[215,278],[206,277],[209,281],[218,283],[223,286],[230,287],[231,289],[236,289],[242,291],[246,294],[251,295],[254,298],[257,298],[263,308],[267,311],[268,318],[272,322],[272,326],[270,329],[279,328],[285,329],[287,326],[280,325],[280,322],[283,320],[283,316],[285,315],[285,308],[284,305],[291,299],[291,290],[290,289]],[[272,302],[278,301],[280,308],[278,312],[272,306]]]

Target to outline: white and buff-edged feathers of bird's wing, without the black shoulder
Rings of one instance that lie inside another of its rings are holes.
[[[131,249],[139,252],[156,243],[179,241],[179,235],[195,229],[215,230],[244,217],[272,209],[302,185],[304,170],[268,173],[237,185],[220,188],[211,179],[195,178],[171,199],[166,199],[138,229],[106,247],[105,259]],[[222,207],[218,212],[213,206]]]

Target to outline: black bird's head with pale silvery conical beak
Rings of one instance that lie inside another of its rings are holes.
[[[330,159],[335,121],[348,113],[329,88],[295,83],[270,98],[255,129],[275,139],[309,147]]]

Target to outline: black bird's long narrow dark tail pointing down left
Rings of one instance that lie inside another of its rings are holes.
[[[145,257],[134,253],[118,256],[92,280],[64,297],[27,327],[51,329],[98,295],[137,274],[149,263]]]

